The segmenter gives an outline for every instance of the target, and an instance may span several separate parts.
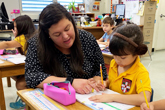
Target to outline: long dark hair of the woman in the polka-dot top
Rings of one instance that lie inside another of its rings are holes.
[[[70,48],[71,57],[69,63],[71,65],[71,70],[73,73],[77,73],[81,76],[85,74],[85,72],[82,69],[84,58],[78,31],[71,14],[59,3],[47,5],[40,14],[38,56],[46,73],[58,77],[67,76],[63,63],[59,58],[60,56],[58,56],[59,50],[49,38],[49,28],[64,18],[72,22],[75,31],[75,41]]]

